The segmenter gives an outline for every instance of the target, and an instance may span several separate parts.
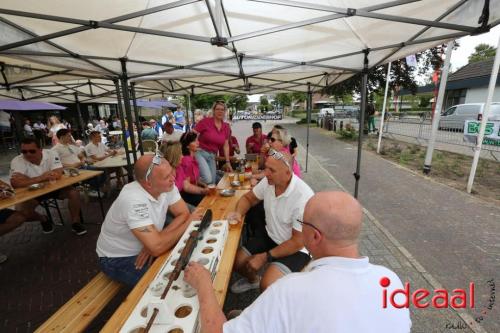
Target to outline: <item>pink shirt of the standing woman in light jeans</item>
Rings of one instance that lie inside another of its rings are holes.
[[[194,130],[200,135],[198,141],[200,148],[213,154],[217,154],[221,147],[224,147],[224,142],[231,136],[231,128],[226,122],[222,122],[221,129],[215,127],[215,119],[205,118],[201,120]]]

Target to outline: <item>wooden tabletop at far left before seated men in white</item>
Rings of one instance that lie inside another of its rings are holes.
[[[102,174],[102,171],[94,171],[94,170],[79,170],[80,174],[75,177],[69,177],[63,175],[61,179],[55,181],[54,183],[45,183],[45,186],[38,190],[29,190],[27,187],[17,188],[16,195],[12,198],[2,199],[0,200],[0,209],[8,208],[25,201],[36,199],[39,196],[44,194],[48,194],[50,192],[54,192],[60,190],[62,188],[71,186],[73,184],[77,184],[84,180],[99,176]]]

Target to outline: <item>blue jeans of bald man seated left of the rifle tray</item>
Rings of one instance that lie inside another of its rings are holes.
[[[145,264],[142,269],[135,268],[135,260],[133,257],[99,257],[99,267],[111,280],[115,280],[126,284],[127,286],[135,286],[141,277],[146,273],[149,265]]]

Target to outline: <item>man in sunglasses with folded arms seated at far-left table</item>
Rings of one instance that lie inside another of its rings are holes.
[[[59,156],[55,151],[42,149],[35,138],[25,138],[21,142],[21,153],[22,155],[14,157],[10,163],[10,183],[12,187],[28,187],[61,178],[63,166]],[[23,202],[16,209],[23,212],[28,220],[41,221],[43,232],[50,234],[54,231],[54,226],[47,220],[46,216],[35,211],[38,203],[46,199],[68,199],[71,230],[78,236],[87,233],[87,229],[80,223],[80,193],[71,186]]]

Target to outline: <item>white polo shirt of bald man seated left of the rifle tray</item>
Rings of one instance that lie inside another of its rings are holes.
[[[97,239],[99,257],[136,256],[144,247],[131,229],[154,225],[163,230],[168,206],[181,199],[177,187],[153,198],[138,182],[125,185],[106,214]]]

